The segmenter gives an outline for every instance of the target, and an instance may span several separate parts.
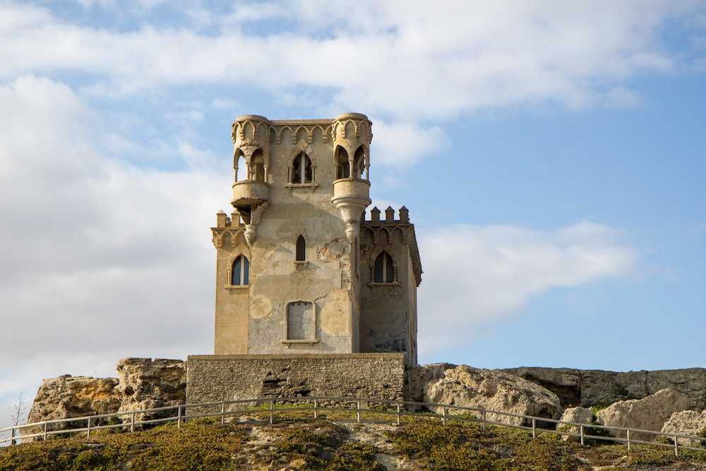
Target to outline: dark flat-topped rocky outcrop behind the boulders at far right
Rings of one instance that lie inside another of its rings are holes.
[[[706,409],[706,369],[657,371],[582,370],[569,368],[503,369],[553,391],[563,407],[610,405],[618,400],[642,399],[664,388],[688,395],[690,408]]]

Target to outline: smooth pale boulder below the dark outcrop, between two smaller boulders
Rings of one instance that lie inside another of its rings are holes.
[[[642,399],[621,400],[598,411],[598,422],[607,427],[660,431],[674,412],[687,410],[688,395],[676,389],[662,389]],[[609,430],[613,436],[625,437],[625,431]],[[631,432],[635,440],[654,441],[657,435]]]

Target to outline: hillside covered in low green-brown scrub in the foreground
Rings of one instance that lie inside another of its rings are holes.
[[[581,447],[557,436],[475,424],[410,420],[347,424],[325,419],[266,425],[168,424],[133,434],[99,431],[0,449],[0,470],[706,470],[706,450],[636,446]]]

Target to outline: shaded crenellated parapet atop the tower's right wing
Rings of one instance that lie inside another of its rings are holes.
[[[419,246],[417,246],[417,234],[414,232],[414,224],[409,222],[409,210],[402,206],[398,217],[395,217],[395,210],[388,206],[385,209],[385,219],[380,218],[381,211],[373,207],[370,211],[370,218],[364,217],[360,222],[361,234],[369,234],[373,247],[391,246],[399,240],[402,244],[409,246],[409,256],[412,258],[412,268],[417,286],[421,283],[421,258],[419,256]],[[384,248],[384,247],[383,247]],[[372,255],[371,248],[361,247],[361,252]],[[364,255],[363,255],[364,256]],[[372,262],[372,260],[369,260]]]

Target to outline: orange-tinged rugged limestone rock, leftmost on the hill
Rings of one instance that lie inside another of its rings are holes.
[[[117,384],[116,378],[91,378],[70,374],[45,379],[37,390],[27,422],[117,412],[120,407],[120,395],[115,389]],[[92,422],[92,425],[98,425],[98,422]],[[100,421],[100,424],[105,422]],[[75,427],[85,427],[85,422],[52,424],[49,430]],[[39,430],[24,431],[25,434],[33,434]]]

